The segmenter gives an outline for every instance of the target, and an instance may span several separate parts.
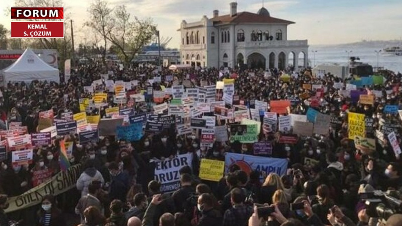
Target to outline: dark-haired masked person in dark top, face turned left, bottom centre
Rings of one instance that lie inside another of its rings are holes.
[[[222,215],[213,208],[214,197],[203,193],[198,197],[197,209],[201,212],[197,226],[222,226]]]

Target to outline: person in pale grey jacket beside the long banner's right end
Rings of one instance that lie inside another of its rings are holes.
[[[96,170],[94,160],[86,160],[83,167],[84,171],[77,180],[76,187],[81,191],[81,197],[88,194],[88,186],[92,181],[100,181],[103,185],[105,180],[102,174]]]

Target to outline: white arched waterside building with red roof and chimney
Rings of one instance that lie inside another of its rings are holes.
[[[178,30],[181,62],[232,68],[242,64],[280,69],[307,66],[307,40],[287,40],[287,25],[292,23],[271,17],[265,8],[258,13],[237,13],[237,3],[232,2],[228,15],[219,16],[214,10],[212,18],[203,16],[195,23],[182,21]],[[289,62],[289,55],[293,62]]]

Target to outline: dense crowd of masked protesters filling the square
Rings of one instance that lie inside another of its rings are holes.
[[[137,93],[146,90],[151,85],[148,79],[156,74],[162,81],[152,84],[154,90],[161,90],[160,85],[170,87],[173,81],[181,84],[189,76],[194,86],[201,86],[201,82],[214,85],[223,78],[233,77],[235,95],[244,105],[250,105],[253,100],[269,103],[293,99],[296,101],[290,112],[301,115],[306,114],[309,106],[300,95],[304,92],[315,95],[314,91],[305,90],[303,84],[321,84],[326,92],[320,98],[320,106],[314,109],[333,115],[336,122],[331,123],[327,135],[299,136],[296,144],[282,144],[278,141],[279,133],[264,134],[261,129],[259,141],[269,141],[273,147],[272,154],[267,156],[288,160],[286,174],[265,175],[257,171],[248,174],[232,165],[219,182],[199,179],[200,160],[224,160],[227,152],[252,155],[252,145],[214,142],[212,148],[200,147],[200,134],[196,131],[187,136],[176,136],[176,131],[146,132],[137,142],[105,136],[99,142],[85,145],[79,144],[77,135],[73,134],[69,136],[74,141],[69,161],[71,165],[82,164],[76,189],[56,197],[45,195],[39,206],[6,214],[8,197],[21,195],[33,187],[34,171],[51,168],[53,175],[60,171],[58,142],[35,148],[33,163],[23,166],[13,166],[8,153],[9,158],[1,162],[0,168],[0,193],[4,194],[0,195],[0,226],[20,219],[23,221],[19,224],[27,226],[76,225],[78,222],[72,219],[78,219],[80,226],[367,226],[377,222],[402,225],[402,215],[398,214],[400,203],[394,206],[393,212],[379,215],[376,206],[368,205],[362,198],[362,194],[374,194],[374,191],[376,195],[383,191],[394,202],[402,198],[400,156],[394,153],[388,140],[380,143],[373,132],[390,123],[396,125],[394,131],[400,141],[399,115],[385,114],[383,109],[386,105],[398,105],[402,109],[401,93],[389,91],[400,85],[402,74],[386,71],[384,84],[361,88],[382,93],[373,105],[363,105],[343,97],[334,88],[334,82],[346,84],[354,80],[353,76],[345,80],[331,74],[317,78],[310,69],[296,73],[272,69],[269,76],[264,70],[229,69],[229,73],[222,70],[191,68],[172,72],[168,68],[158,71],[154,66],[123,69],[112,66],[106,70],[97,62],[80,65],[73,68],[67,83],[7,84],[1,89],[0,125],[5,130],[7,123],[21,122],[31,134],[37,132],[41,111],[52,109],[55,119],[67,111],[79,113],[78,100],[92,95],[84,86],[90,86],[101,74],[108,73],[111,80],[139,80],[138,86],[127,90]],[[280,78],[285,73],[293,75],[289,81]],[[165,81],[168,75],[174,76],[173,81]],[[99,88],[107,89],[104,85],[96,89]],[[164,101],[170,100],[171,97]],[[91,108],[87,115],[105,118],[107,107],[119,106],[113,103],[113,93],[109,92],[106,101],[105,107]],[[152,112],[152,103],[135,103],[134,108],[135,112]],[[373,119],[367,137],[376,140],[375,151],[359,150],[348,138],[347,112],[362,113]],[[216,121],[217,125],[228,123],[228,120]],[[160,182],[154,180],[155,163],[150,160],[184,153],[192,153],[194,160],[191,167],[180,169],[181,188],[174,193],[162,193]],[[305,158],[318,163],[306,165]]]

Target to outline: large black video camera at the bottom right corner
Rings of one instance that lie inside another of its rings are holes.
[[[366,213],[369,217],[386,221],[391,215],[402,212],[402,200],[383,191],[374,191],[370,195],[366,194],[363,195],[362,200],[365,200]]]

